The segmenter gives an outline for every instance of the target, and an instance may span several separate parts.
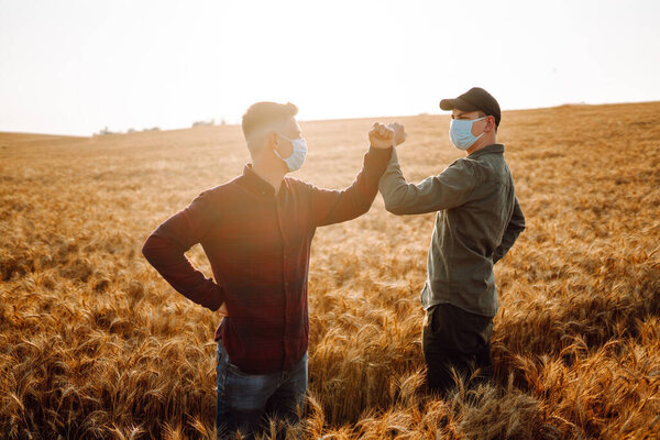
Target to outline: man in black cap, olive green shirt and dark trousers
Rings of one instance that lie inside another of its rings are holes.
[[[493,265],[525,229],[525,217],[504,145],[496,142],[495,98],[475,87],[443,99],[440,108],[452,111],[450,139],[466,156],[414,185],[406,183],[395,151],[380,190],[385,208],[397,216],[438,211],[421,290],[422,349],[429,389],[444,394],[454,383],[452,367],[464,378],[475,369],[481,380],[492,376]]]

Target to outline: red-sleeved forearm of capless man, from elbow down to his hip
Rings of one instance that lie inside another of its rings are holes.
[[[222,304],[222,288],[195,268],[185,253],[167,238],[153,233],[142,246],[142,254],[186,298],[213,311]]]

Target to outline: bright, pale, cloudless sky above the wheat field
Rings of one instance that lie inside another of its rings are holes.
[[[0,0],[0,131],[660,100],[660,1]]]

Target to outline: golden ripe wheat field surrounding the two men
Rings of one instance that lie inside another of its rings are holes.
[[[396,120],[409,182],[462,154],[447,116]],[[373,121],[302,122],[310,151],[294,176],[350,185]],[[307,417],[289,437],[660,438],[659,139],[660,102],[504,112],[527,229],[495,266],[495,383],[459,383],[446,399],[422,387],[433,215],[393,216],[378,195],[365,216],[319,229]],[[213,438],[220,317],[140,249],[246,162],[235,125],[0,133],[0,437]],[[188,256],[211,274],[199,245]]]

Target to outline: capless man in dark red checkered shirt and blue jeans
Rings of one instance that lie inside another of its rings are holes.
[[[321,189],[285,177],[307,153],[297,112],[292,103],[253,105],[242,122],[252,164],[241,176],[202,191],[142,249],[177,292],[223,316],[215,338],[216,424],[226,432],[252,435],[264,415],[298,421],[307,388],[311,239],[318,227],[369,211],[392,145],[405,139],[402,125],[375,123],[353,184]],[[196,243],[215,280],[185,256]]]

